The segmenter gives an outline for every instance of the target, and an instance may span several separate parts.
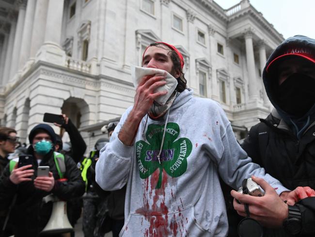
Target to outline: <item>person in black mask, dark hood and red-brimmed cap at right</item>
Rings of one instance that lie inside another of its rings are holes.
[[[270,55],[263,81],[274,108],[251,128],[242,148],[286,188],[297,188],[302,199],[288,203],[288,211],[279,215],[283,228],[266,229],[265,234],[315,236],[315,197],[301,188],[315,189],[315,39],[302,35],[286,39]],[[240,200],[245,195],[233,192],[232,196]],[[263,213],[253,197],[242,202],[250,203],[256,220],[274,226],[263,216],[268,211]],[[234,202],[234,207],[245,216],[243,205]]]

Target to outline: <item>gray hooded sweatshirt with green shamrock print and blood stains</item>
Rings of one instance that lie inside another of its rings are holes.
[[[278,193],[287,190],[251,163],[219,103],[194,98],[186,89],[164,119],[142,119],[129,147],[117,136],[131,109],[96,163],[96,182],[103,189],[120,189],[127,183],[120,236],[225,237],[228,222],[219,175],[234,188],[255,175]]]

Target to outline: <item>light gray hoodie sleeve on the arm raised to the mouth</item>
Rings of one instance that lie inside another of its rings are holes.
[[[96,162],[95,180],[104,190],[118,190],[127,183],[133,146],[129,147],[123,144],[118,138],[118,133],[130,110],[131,107],[123,114],[110,137],[110,142],[101,149],[99,159]]]

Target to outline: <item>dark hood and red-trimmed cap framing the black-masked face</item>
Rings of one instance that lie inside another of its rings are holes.
[[[311,57],[310,57],[311,56]],[[263,82],[268,95],[268,98],[272,105],[277,109],[279,115],[287,124],[294,125],[297,128],[297,133],[304,127],[307,121],[312,122],[315,120],[315,104],[310,110],[301,118],[295,118],[289,115],[283,109],[279,107],[277,102],[277,87],[278,78],[276,73],[273,73],[272,66],[276,67],[279,61],[284,60],[288,57],[303,57],[305,60],[315,61],[315,39],[303,35],[295,35],[284,40],[275,51],[272,52],[266,66],[263,71]],[[314,64],[315,66],[315,64]]]

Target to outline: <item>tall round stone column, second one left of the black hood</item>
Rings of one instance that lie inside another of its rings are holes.
[[[247,61],[247,71],[249,76],[249,97],[250,100],[257,100],[259,97],[259,92],[257,90],[256,84],[256,73],[255,73],[255,59],[254,59],[254,49],[252,45],[252,31],[247,30],[245,32],[245,46],[246,46],[246,61]]]

